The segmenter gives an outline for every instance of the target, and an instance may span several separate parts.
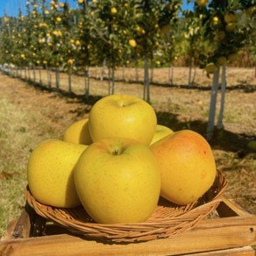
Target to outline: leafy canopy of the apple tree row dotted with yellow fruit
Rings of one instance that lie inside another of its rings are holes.
[[[74,70],[103,61],[110,68],[147,61],[161,67],[185,55],[212,73],[245,47],[255,53],[254,0],[197,0],[194,11],[181,5],[78,0],[73,10],[64,0],[27,1],[25,15],[1,18],[0,62]]]

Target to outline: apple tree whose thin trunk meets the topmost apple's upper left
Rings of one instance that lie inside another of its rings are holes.
[[[90,5],[90,33],[96,46],[97,60],[106,61],[111,82],[109,94],[115,92],[115,68],[123,65],[132,48],[136,47],[132,28],[138,15],[138,1],[103,0]]]

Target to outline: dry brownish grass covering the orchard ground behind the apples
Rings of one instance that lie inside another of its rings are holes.
[[[166,71],[167,69],[155,71],[154,82],[167,82]],[[188,82],[185,71],[184,68],[175,70],[176,82],[173,86],[152,86],[153,108],[160,124],[166,124],[174,131],[191,129],[203,134],[210,105],[210,79],[199,71],[196,75],[197,87],[189,88],[184,86]],[[238,83],[241,75],[248,82],[245,86]],[[216,156],[217,168],[224,172],[229,181],[226,195],[256,213],[256,155],[246,148],[248,141],[256,139],[256,82],[252,75],[252,69],[236,69],[235,73],[231,69],[231,76],[228,77],[231,86],[226,92],[224,131],[217,133],[211,146]],[[134,74],[129,77],[134,77]],[[47,83],[46,75],[42,74],[42,78]],[[53,74],[52,79],[54,82]],[[68,89],[67,75],[60,74],[60,79],[64,84],[61,89]],[[72,86],[75,93],[81,95],[84,90],[84,78],[74,76]],[[68,125],[87,117],[91,104],[99,98],[98,96],[107,94],[108,82],[92,79],[92,96],[86,104],[79,96],[70,97],[66,93],[42,90],[30,83],[1,74],[0,88],[2,237],[6,225],[12,218],[19,216],[25,204],[26,165],[32,148],[43,139],[61,139]],[[141,83],[117,82],[116,93],[124,92],[141,97],[143,88]]]

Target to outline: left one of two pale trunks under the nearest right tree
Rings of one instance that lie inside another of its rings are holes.
[[[217,88],[218,88],[218,77],[219,77],[219,68],[214,72],[212,79],[212,87],[210,93],[210,110],[209,118],[206,132],[206,139],[211,140],[214,132],[214,119],[216,112],[216,101],[217,101]]]

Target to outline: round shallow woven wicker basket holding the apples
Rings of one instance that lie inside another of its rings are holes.
[[[218,173],[213,186],[195,203],[179,206],[160,198],[153,215],[144,223],[96,224],[81,207],[60,209],[36,201],[29,189],[27,203],[42,217],[65,226],[79,235],[114,243],[132,243],[167,238],[192,229],[201,219],[216,210],[224,194],[226,181]]]

